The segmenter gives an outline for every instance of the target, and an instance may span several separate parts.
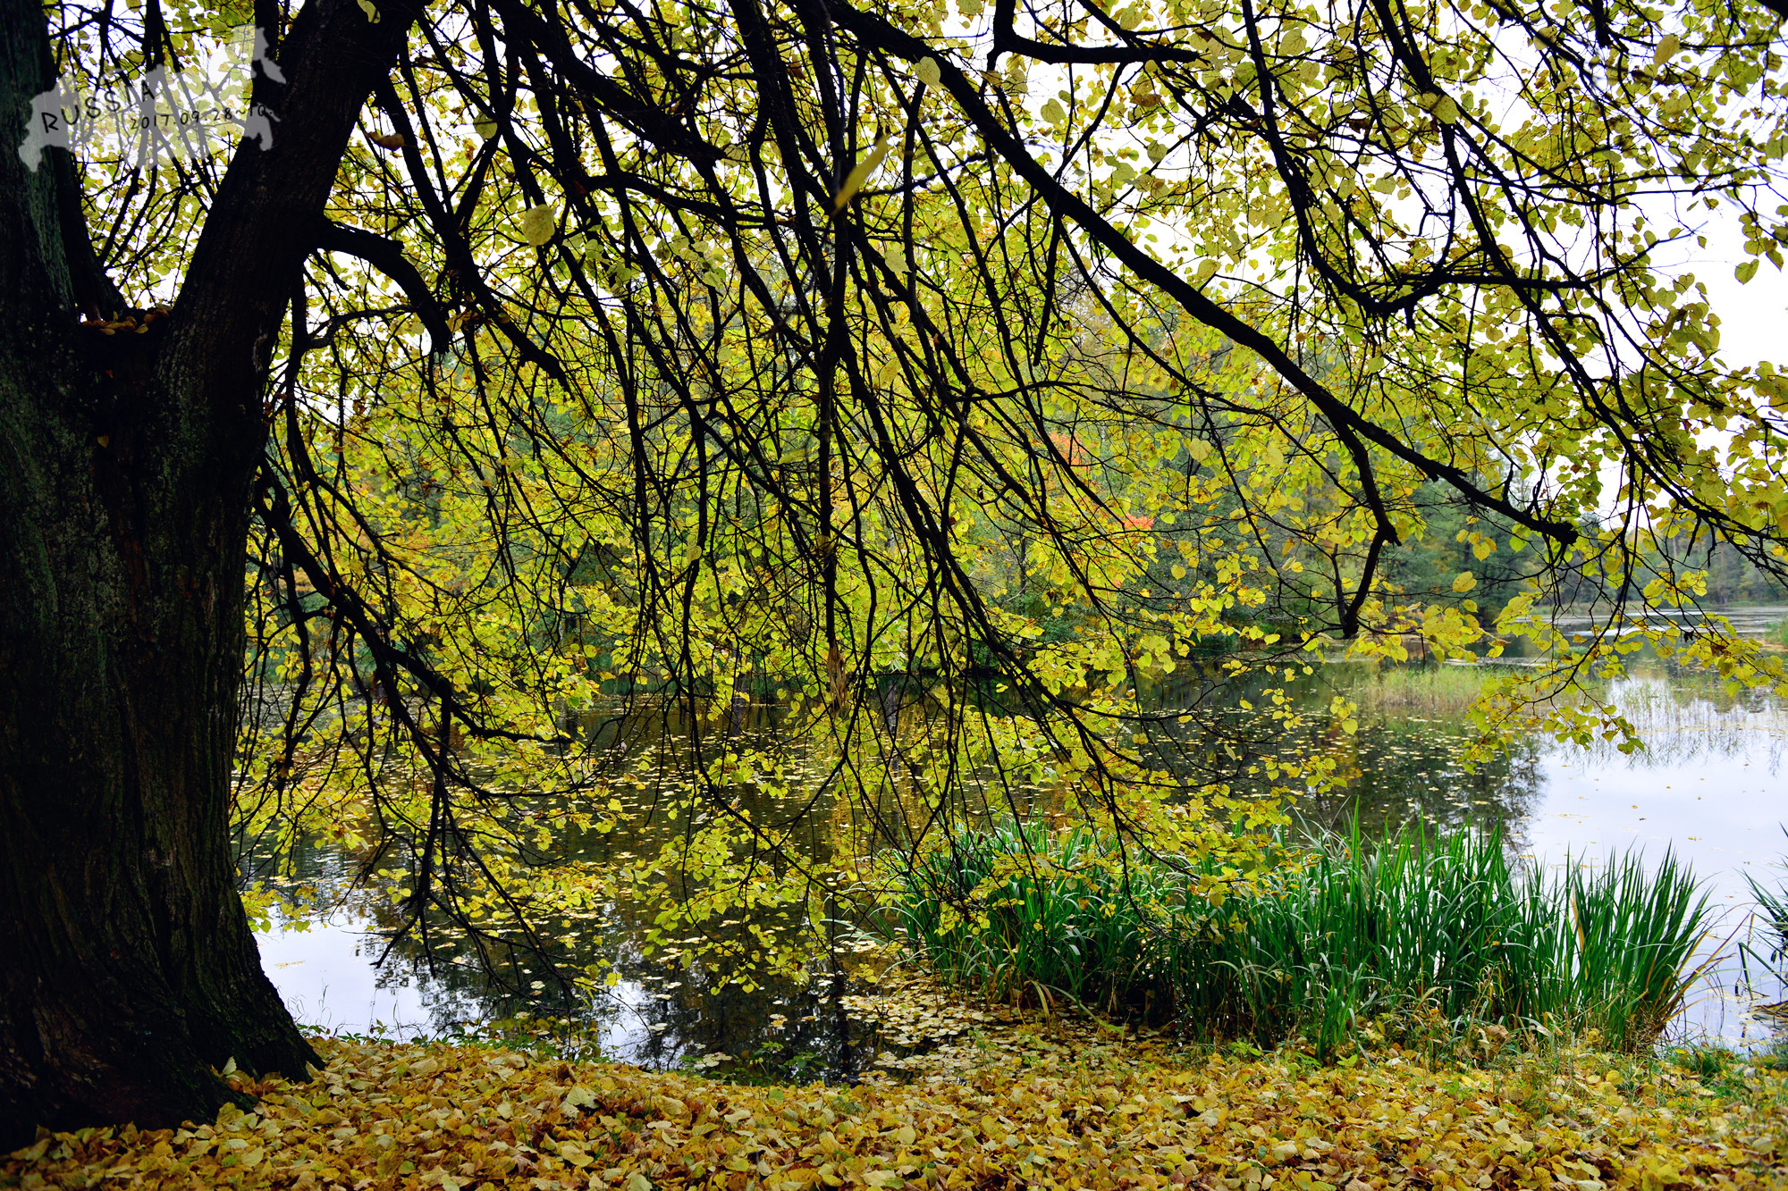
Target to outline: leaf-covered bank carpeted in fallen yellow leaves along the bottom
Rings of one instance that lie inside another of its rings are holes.
[[[1788,1182],[1788,1077],[1584,1050],[1430,1069],[1184,1050],[1109,1026],[951,1043],[907,1082],[746,1087],[447,1044],[318,1041],[309,1084],[215,1123],[43,1134],[0,1186],[1681,1187]]]

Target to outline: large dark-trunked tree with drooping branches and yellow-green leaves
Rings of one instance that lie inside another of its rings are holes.
[[[4,2],[11,143],[61,70],[213,16]],[[1160,839],[1164,792],[1223,783],[1135,690],[1200,640],[1277,674],[1527,633],[1556,663],[1513,721],[1693,604],[1697,544],[1783,570],[1781,381],[1656,265],[1672,202],[1742,216],[1743,277],[1779,259],[1761,9],[252,20],[272,147],[222,179],[0,156],[0,1137],[313,1059],[232,891],[249,789],[334,774],[417,925],[519,910],[492,798],[574,769],[561,715],[617,683],[687,710],[696,796],[762,837],[735,794],[781,778],[712,715],[755,676],[824,781],[898,790],[903,846],[989,765]],[[118,286],[177,297],[125,322]],[[1480,558],[1531,544],[1495,626],[1470,572],[1386,579],[1436,492]],[[1536,610],[1586,570],[1573,644]],[[1683,649],[1781,676],[1713,621]]]

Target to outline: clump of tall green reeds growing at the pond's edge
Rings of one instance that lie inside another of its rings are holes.
[[[994,996],[1259,1046],[1302,1035],[1323,1059],[1370,1018],[1550,1023],[1643,1048],[1683,1007],[1709,916],[1668,853],[1547,876],[1513,864],[1500,832],[1332,839],[1230,878],[1091,830],[1003,824],[921,858],[898,912],[940,975]]]

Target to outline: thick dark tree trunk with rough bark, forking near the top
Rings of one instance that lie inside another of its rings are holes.
[[[16,152],[54,79],[43,9],[0,0],[0,1150],[38,1125],[209,1118],[211,1073],[316,1055],[234,891],[227,812],[250,485],[286,300],[413,5],[313,0],[270,150],[213,202],[173,315],[118,293],[75,165]]]

